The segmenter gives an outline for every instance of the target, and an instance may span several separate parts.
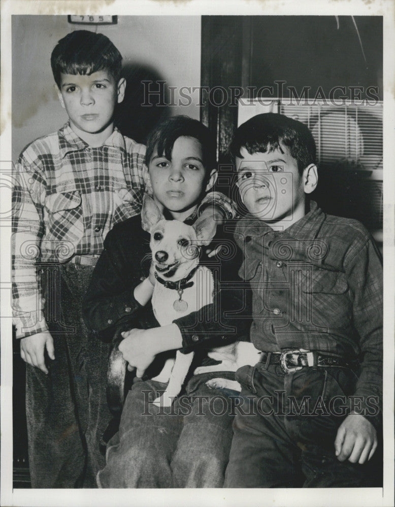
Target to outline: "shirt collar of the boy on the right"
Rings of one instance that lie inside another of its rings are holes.
[[[298,222],[295,222],[288,229],[279,234],[286,234],[298,240],[314,239],[325,220],[325,214],[318,207],[315,201],[310,201],[310,211],[306,213]],[[236,232],[243,236],[260,237],[273,231],[269,224],[262,222],[251,214],[247,214],[239,220]]]

